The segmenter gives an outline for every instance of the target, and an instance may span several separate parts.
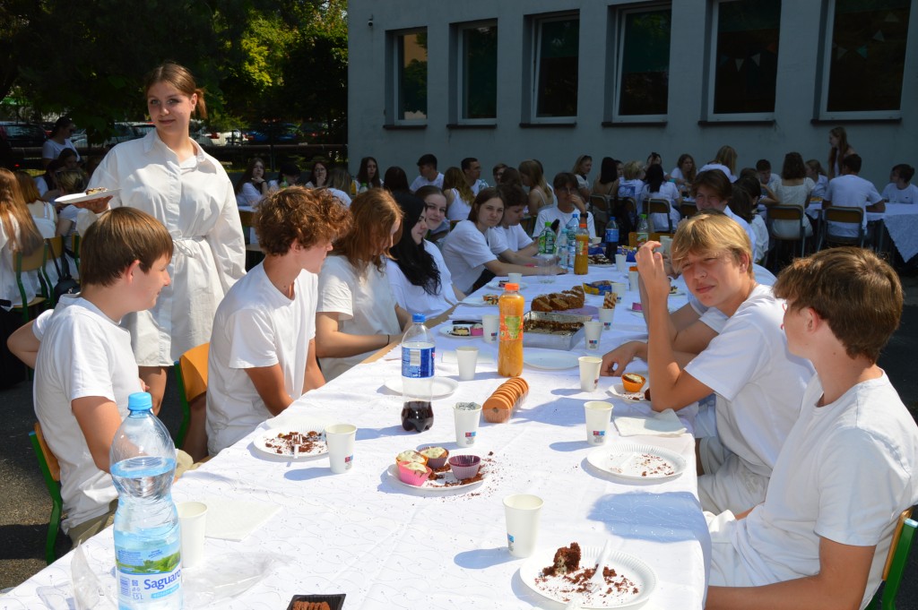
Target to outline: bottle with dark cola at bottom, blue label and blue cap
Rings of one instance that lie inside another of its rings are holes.
[[[436,347],[424,315],[411,316],[402,338],[402,427],[423,432],[433,426],[433,361]]]

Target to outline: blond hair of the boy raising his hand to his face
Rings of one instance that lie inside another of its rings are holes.
[[[722,172],[717,172],[722,173]],[[746,272],[755,277],[753,270],[752,243],[743,227],[733,218],[718,210],[701,210],[688,220],[679,223],[673,236],[671,257],[673,267],[682,269],[690,254],[717,254],[729,252],[733,260],[748,263]]]

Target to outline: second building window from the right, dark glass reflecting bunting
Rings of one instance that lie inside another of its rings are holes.
[[[773,114],[781,3],[721,0],[714,11],[713,114]]]

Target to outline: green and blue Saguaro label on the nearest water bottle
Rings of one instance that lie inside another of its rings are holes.
[[[182,560],[178,544],[169,550],[174,552],[163,556],[161,549],[116,549],[118,597],[142,604],[180,594]]]

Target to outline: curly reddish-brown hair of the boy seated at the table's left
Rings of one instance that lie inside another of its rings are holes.
[[[282,256],[295,241],[311,248],[341,237],[351,228],[351,211],[327,189],[291,186],[264,197],[254,225],[264,253]]]

